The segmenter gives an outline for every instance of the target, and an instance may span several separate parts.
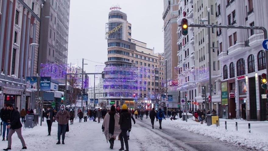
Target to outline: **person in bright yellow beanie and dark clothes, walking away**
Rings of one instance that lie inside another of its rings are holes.
[[[121,133],[119,135],[121,148],[119,150],[124,150],[124,142],[125,142],[125,151],[129,151],[129,142],[127,137],[127,131],[131,131],[131,114],[127,109],[127,105],[123,104],[122,110],[119,118],[119,125],[121,128]]]

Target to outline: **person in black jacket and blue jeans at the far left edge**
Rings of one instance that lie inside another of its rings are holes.
[[[5,109],[1,109],[1,120],[3,122],[2,141],[5,141],[5,131],[6,131],[6,140],[8,140],[9,128],[7,126],[9,125],[8,121],[10,121],[10,111],[7,110],[7,107],[5,107]]]

